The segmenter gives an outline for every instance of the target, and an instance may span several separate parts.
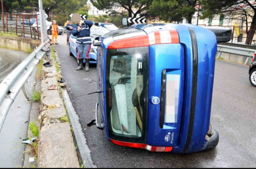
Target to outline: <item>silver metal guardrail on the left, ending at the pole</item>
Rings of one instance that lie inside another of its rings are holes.
[[[50,50],[50,45],[50,40],[42,43],[0,83],[0,132],[15,98],[42,57]]]

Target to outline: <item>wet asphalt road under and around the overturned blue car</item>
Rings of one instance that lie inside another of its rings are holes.
[[[248,78],[248,67],[216,61],[211,123],[220,134],[216,149],[190,155],[151,153],[143,149],[117,146],[106,139],[96,126],[87,127],[95,119],[97,96],[96,65],[90,72],[76,71],[76,58],[68,54],[65,35],[59,36],[58,50],[63,77],[70,88],[69,96],[80,118],[91,150],[93,163],[99,168],[185,168],[185,167],[255,167],[256,115],[255,91]],[[94,80],[94,81],[88,81]]]

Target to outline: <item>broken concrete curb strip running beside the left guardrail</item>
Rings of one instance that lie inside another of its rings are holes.
[[[52,59],[52,58],[51,58]],[[52,59],[53,60],[53,59]],[[47,61],[44,60],[44,63]],[[69,123],[60,118],[67,115],[61,98],[55,65],[42,68],[42,123],[38,168],[80,168]]]

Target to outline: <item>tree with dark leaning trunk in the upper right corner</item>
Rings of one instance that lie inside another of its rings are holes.
[[[201,0],[204,18],[224,15],[224,19],[244,20],[246,24],[246,44],[251,44],[256,30],[255,0]],[[248,24],[251,23],[250,29]]]

